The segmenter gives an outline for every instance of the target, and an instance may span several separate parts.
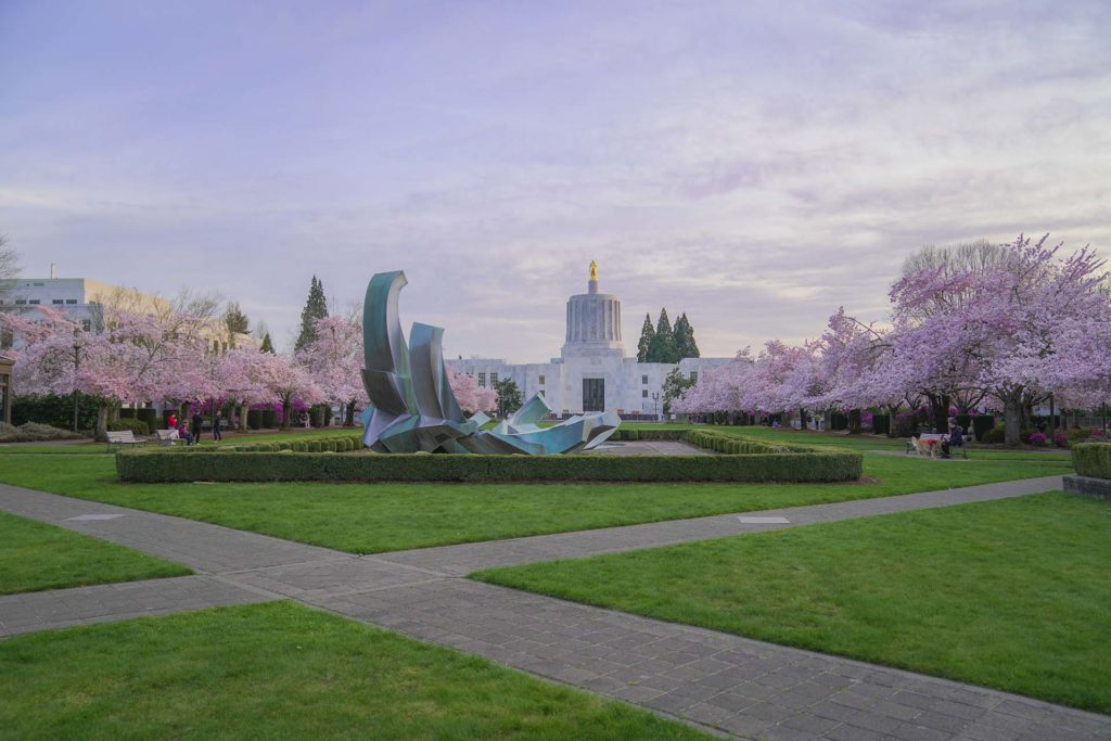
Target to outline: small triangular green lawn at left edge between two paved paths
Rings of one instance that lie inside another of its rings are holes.
[[[122,545],[0,512],[0,594],[189,573]]]

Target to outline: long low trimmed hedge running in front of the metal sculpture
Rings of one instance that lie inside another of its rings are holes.
[[[466,455],[122,451],[121,481],[852,481],[860,453]]]

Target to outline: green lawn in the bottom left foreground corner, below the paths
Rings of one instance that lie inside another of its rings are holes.
[[[0,739],[700,739],[290,602],[0,642]]]

